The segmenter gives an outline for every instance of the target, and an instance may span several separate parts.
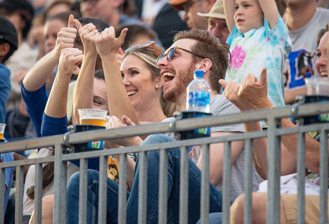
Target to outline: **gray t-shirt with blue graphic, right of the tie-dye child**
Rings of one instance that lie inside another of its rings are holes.
[[[301,15],[302,16],[302,15]],[[311,20],[299,30],[289,31],[288,35],[293,43],[284,73],[285,89],[291,90],[305,85],[304,76],[311,76],[311,68],[316,76],[316,57],[311,57],[317,50],[317,36],[320,29],[325,28],[329,21],[329,9],[317,8]]]

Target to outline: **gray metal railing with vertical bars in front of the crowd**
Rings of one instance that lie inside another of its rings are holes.
[[[76,144],[95,140],[114,139],[131,137],[136,135],[148,135],[154,133],[175,132],[190,130],[200,127],[219,126],[234,123],[243,123],[259,120],[268,120],[266,131],[248,132],[220,137],[206,137],[197,139],[180,140],[152,145],[133,146],[125,148],[115,148],[111,150],[97,150],[81,153],[66,154],[64,135],[35,138],[16,142],[0,144],[0,152],[14,152],[33,148],[48,146],[55,147],[54,156],[26,159],[13,162],[0,163],[0,182],[4,183],[4,169],[8,167],[16,168],[16,195],[15,195],[15,223],[22,221],[23,205],[23,166],[35,164],[35,223],[41,223],[41,199],[42,199],[42,164],[54,162],[54,223],[63,224],[66,222],[66,169],[68,160],[80,160],[80,187],[79,187],[79,223],[86,223],[86,200],[87,200],[87,159],[99,157],[100,159],[100,185],[99,194],[99,214],[98,223],[106,223],[107,206],[107,157],[109,155],[120,155],[120,183],[119,183],[119,210],[118,220],[120,224],[126,223],[126,180],[127,173],[127,153],[139,153],[139,223],[146,223],[146,196],[147,196],[147,152],[160,150],[160,186],[159,186],[159,223],[167,223],[167,150],[170,148],[180,148],[180,186],[179,186],[179,223],[187,224],[188,219],[188,151],[187,146],[203,145],[202,175],[201,175],[201,223],[208,223],[209,213],[209,144],[224,142],[224,164],[223,164],[223,223],[228,224],[230,219],[230,185],[231,185],[231,142],[235,140],[245,140],[245,223],[252,223],[252,179],[251,170],[253,165],[252,142],[255,138],[268,137],[268,206],[267,221],[270,224],[280,222],[280,136],[287,134],[298,135],[298,223],[304,223],[305,217],[305,133],[308,131],[321,131],[321,213],[322,224],[328,223],[328,130],[329,123],[300,125],[294,128],[281,128],[281,118],[295,116],[313,115],[329,112],[329,103],[317,103],[302,105],[298,111],[292,112],[291,108],[275,110],[261,110],[255,112],[243,112],[239,114],[211,116],[202,118],[189,118],[168,123],[137,125],[125,128],[108,130],[95,130],[88,132],[71,133],[66,143]],[[323,140],[322,140],[323,139]],[[0,185],[0,192],[4,192],[4,185]],[[0,224],[3,223],[3,197],[0,197]]]

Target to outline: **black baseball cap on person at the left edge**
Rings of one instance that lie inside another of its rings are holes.
[[[0,15],[0,40],[5,40],[6,42],[14,46],[14,50],[17,49],[17,31],[13,24],[6,19],[4,16]]]

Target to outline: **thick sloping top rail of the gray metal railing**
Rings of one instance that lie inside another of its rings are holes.
[[[301,105],[298,108],[297,116],[312,115],[329,112],[329,103],[315,103]],[[124,128],[113,128],[108,130],[94,130],[85,132],[72,133],[69,135],[70,144],[131,137],[136,135],[147,135],[153,133],[164,133],[170,131],[183,131],[190,130],[199,127],[219,126],[233,123],[252,122],[264,120],[269,117],[288,117],[292,116],[291,108],[279,108],[276,110],[259,110],[251,112],[242,112],[229,115],[216,115],[199,118],[186,118],[181,120],[173,120],[171,122],[136,125]],[[56,143],[63,142],[64,135],[54,135],[42,138],[33,138],[29,140],[14,141],[0,144],[0,152],[22,151],[26,149],[42,148],[47,146],[53,146]]]

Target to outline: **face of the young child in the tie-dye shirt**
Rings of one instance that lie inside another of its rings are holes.
[[[264,15],[258,0],[235,0],[234,7],[234,22],[240,32],[245,33],[264,24]]]

